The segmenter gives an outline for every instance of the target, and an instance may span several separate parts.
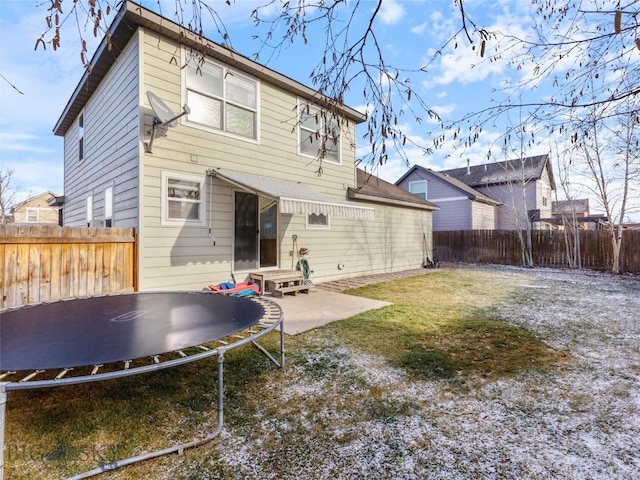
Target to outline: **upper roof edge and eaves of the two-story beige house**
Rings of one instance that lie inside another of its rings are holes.
[[[118,56],[122,53],[138,27],[144,27],[148,30],[158,32],[200,53],[220,60],[227,65],[292,92],[320,106],[335,106],[327,97],[321,96],[312,88],[286,75],[271,70],[264,65],[260,65],[227,47],[199,36],[168,18],[162,17],[151,10],[147,10],[137,3],[124,0],[120,11],[114,15],[114,20],[109,27],[108,35],[111,38],[111,45],[108,45],[106,37],[100,42],[100,45],[91,58],[91,68],[85,70],[85,73],[65,106],[62,115],[56,122],[53,129],[56,135],[64,135],[71,125],[73,125],[74,120],[98,88],[98,85],[106,76],[111,66],[116,62]],[[341,106],[340,113],[356,123],[366,120],[365,114],[346,105]]]

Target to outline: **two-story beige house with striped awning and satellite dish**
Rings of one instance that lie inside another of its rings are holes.
[[[420,267],[437,207],[356,170],[364,114],[330,115],[314,90],[129,1],[109,37],[54,129],[65,224],[135,227],[140,290],[292,269],[302,248],[313,281]]]

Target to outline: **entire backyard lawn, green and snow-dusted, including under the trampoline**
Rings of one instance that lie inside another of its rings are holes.
[[[458,268],[349,293],[393,305],[288,336],[282,370],[250,347],[230,352],[216,440],[102,478],[640,471],[637,280]],[[60,478],[204,435],[216,420],[215,367],[11,393],[6,479]]]

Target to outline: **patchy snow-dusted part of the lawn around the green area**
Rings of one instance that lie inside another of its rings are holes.
[[[243,479],[638,478],[640,282],[514,271],[531,278],[492,313],[564,352],[557,368],[457,389],[315,332],[318,348],[272,385],[255,428],[227,426],[198,468]]]

